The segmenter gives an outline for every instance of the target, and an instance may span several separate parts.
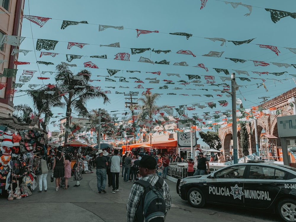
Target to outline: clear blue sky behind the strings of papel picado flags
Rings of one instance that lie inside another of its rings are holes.
[[[238,1],[234,1],[238,2]],[[55,66],[60,62],[67,62],[66,54],[81,55],[81,59],[74,59],[69,64],[76,64],[76,67],[70,67],[73,73],[78,73],[85,69],[84,62],[93,62],[99,69],[86,68],[91,73],[91,84],[100,86],[102,91],[110,90],[111,94],[107,94],[111,103],[104,105],[102,100],[92,100],[87,103],[89,110],[104,108],[107,111],[117,114],[121,118],[128,111],[124,107],[124,102],[130,102],[125,99],[124,94],[116,94],[115,92],[124,92],[128,94],[130,91],[138,91],[139,95],[134,98],[140,98],[143,91],[147,88],[151,89],[152,93],[162,94],[158,105],[169,105],[178,108],[180,105],[192,107],[193,104],[199,103],[206,107],[201,109],[194,107],[195,110],[186,110],[189,117],[192,115],[201,115],[204,112],[210,112],[212,115],[215,111],[231,110],[231,97],[227,97],[226,93],[221,94],[223,86],[210,86],[206,83],[205,76],[214,76],[215,84],[227,83],[223,82],[220,77],[230,77],[223,72],[217,73],[213,68],[227,69],[229,73],[234,70],[247,71],[248,75],[238,74],[237,84],[240,86],[237,91],[237,98],[242,99],[243,106],[250,108],[260,104],[263,99],[258,97],[270,97],[272,99],[281,93],[292,89],[296,86],[293,76],[296,74],[296,69],[292,66],[279,67],[273,63],[295,64],[296,54],[287,48],[296,48],[296,19],[292,17],[281,18],[274,23],[271,20],[270,12],[265,8],[276,9],[286,12],[296,12],[296,2],[294,0],[270,1],[270,0],[249,0],[239,1],[242,4],[252,6],[252,12],[249,16],[244,16],[250,13],[247,7],[238,5],[233,8],[231,4],[226,4],[224,1],[208,0],[203,9],[201,1],[44,1],[44,0],[27,0],[25,1],[24,15],[49,17],[43,27],[30,22],[27,19],[22,21],[22,37],[26,37],[22,42],[20,49],[32,50],[26,56],[19,54],[19,61],[30,62],[30,65],[18,65],[16,83],[20,83],[19,77],[23,70],[36,70],[30,82],[25,83],[22,88],[28,89],[29,84],[54,83],[54,74],[49,73],[41,75],[42,71],[55,72]],[[1,16],[1,15],[0,15]],[[63,20],[68,21],[87,21],[88,24],[70,25],[65,29],[61,29]],[[123,30],[115,28],[107,28],[99,32],[99,25],[123,26]],[[135,29],[159,31],[158,33],[140,34],[137,38]],[[189,39],[186,36],[171,35],[169,33],[189,33],[192,34]],[[221,46],[221,41],[212,41],[207,38],[224,38],[226,42]],[[248,44],[234,45],[229,41],[244,41],[255,38]],[[47,51],[41,49],[41,52],[58,53],[55,57],[42,56],[39,57],[40,51],[37,51],[37,39],[48,39],[59,41],[54,50]],[[73,46],[67,49],[68,42],[85,43],[82,49]],[[100,45],[109,45],[112,43],[120,43],[119,47],[107,47]],[[270,49],[260,48],[256,44],[276,46],[280,51],[277,56]],[[151,50],[140,54],[131,54],[131,48],[150,48],[155,50],[171,50],[169,53],[157,54]],[[190,54],[176,53],[179,50],[190,50]],[[204,56],[210,51],[223,52],[221,57]],[[130,61],[121,61],[114,59],[118,53],[130,54]],[[93,55],[107,55],[107,59],[91,58]],[[140,57],[148,58],[152,61],[160,62],[166,60],[169,65],[151,64],[147,62],[138,62]],[[233,62],[226,58],[236,58],[246,60],[244,63]],[[250,60],[267,62],[268,66],[255,66]],[[36,61],[52,62],[54,65],[37,64]],[[175,63],[186,62],[188,66],[173,65]],[[204,64],[208,71],[201,67],[195,67],[197,64]],[[110,76],[107,69],[121,70],[115,75]],[[141,73],[128,73],[126,70],[138,70]],[[158,72],[160,75],[149,72]],[[146,73],[148,72],[148,73]],[[257,74],[252,72],[268,72],[269,74]],[[271,73],[286,72],[283,75],[273,75]],[[178,74],[177,75],[168,75]],[[290,75],[291,74],[291,75]],[[99,76],[98,76],[99,75]],[[200,82],[197,79],[189,80],[186,75],[199,75]],[[106,76],[106,77],[105,77]],[[49,77],[49,80],[38,80],[37,77]],[[129,82],[120,82],[120,78],[124,77]],[[130,79],[130,77],[132,79]],[[135,83],[139,78],[144,83]],[[249,78],[250,81],[242,81],[238,77]],[[110,78],[116,82],[105,81],[105,78]],[[159,83],[149,83],[151,80],[146,78],[156,78]],[[261,83],[262,78],[266,90]],[[169,80],[174,84],[167,84]],[[187,85],[181,84],[186,81]],[[199,84],[199,85],[197,85]],[[137,89],[141,85],[144,89]],[[168,89],[159,89],[162,86],[168,86]],[[107,87],[115,87],[107,88]],[[129,88],[121,88],[129,87]],[[168,95],[174,93],[176,95]],[[16,92],[14,104],[32,104],[27,96],[21,96],[24,92]],[[184,95],[182,95],[184,94]],[[192,96],[200,95],[200,96]],[[205,95],[211,95],[209,97]],[[221,97],[218,95],[222,95]],[[18,97],[17,97],[18,96]],[[228,106],[222,107],[218,101],[226,100]],[[211,109],[206,103],[216,103],[216,107]],[[118,110],[118,111],[117,111]],[[174,115],[179,115],[174,110]],[[65,110],[54,109],[54,116],[57,113],[65,113]],[[62,116],[62,115],[59,115]],[[75,117],[75,113],[73,113]],[[223,116],[221,116],[223,118]],[[52,120],[58,120],[52,119]],[[52,121],[51,120],[51,121]],[[57,122],[58,123],[58,122]],[[49,125],[51,131],[57,130],[58,127]]]

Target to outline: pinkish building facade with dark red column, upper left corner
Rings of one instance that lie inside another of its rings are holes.
[[[1,43],[5,35],[20,36],[25,0],[0,1],[0,117],[10,118],[13,112],[15,77],[3,77],[4,68],[16,69],[18,54],[13,54],[13,46]],[[13,55],[12,55],[13,54]]]

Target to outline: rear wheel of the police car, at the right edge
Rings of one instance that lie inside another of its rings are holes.
[[[277,205],[277,210],[280,217],[284,221],[296,220],[296,201],[293,199],[281,200]]]

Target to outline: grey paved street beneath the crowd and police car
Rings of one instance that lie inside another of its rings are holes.
[[[51,171],[50,171],[51,172]],[[0,198],[1,221],[126,221],[126,201],[133,182],[123,182],[120,174],[119,192],[112,194],[112,187],[106,187],[107,193],[98,194],[96,174],[83,174],[79,187],[73,187],[73,177],[68,189],[55,191],[54,182],[48,174],[48,191],[38,193],[20,200],[8,201]],[[176,183],[166,179],[172,196],[172,208],[166,221],[240,221],[263,222],[279,221],[274,215],[253,212],[249,209],[232,209],[232,207],[206,205],[202,209],[193,208],[187,201],[181,200],[176,193]]]

